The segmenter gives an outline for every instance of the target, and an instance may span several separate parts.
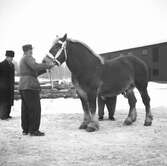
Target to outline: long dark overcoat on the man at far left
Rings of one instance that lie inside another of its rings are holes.
[[[14,75],[13,63],[4,60],[0,63],[0,102],[13,105],[14,101]]]

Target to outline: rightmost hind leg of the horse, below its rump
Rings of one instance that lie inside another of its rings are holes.
[[[146,118],[145,118],[144,126],[151,126],[153,116],[152,116],[151,109],[150,109],[150,97],[147,92],[147,87],[144,88],[143,90],[140,90],[140,94],[141,94],[142,101],[146,109]]]

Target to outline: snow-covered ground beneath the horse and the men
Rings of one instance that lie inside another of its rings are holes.
[[[128,102],[118,97],[116,121],[100,122],[100,130],[79,130],[82,107],[79,99],[43,99],[41,131],[45,137],[22,136],[20,101],[13,119],[0,121],[0,166],[166,166],[167,85],[149,84],[154,116],[145,127],[145,110],[136,92],[138,119],[123,126]]]

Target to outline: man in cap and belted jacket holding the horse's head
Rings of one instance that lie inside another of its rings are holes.
[[[33,58],[31,44],[22,47],[24,55],[20,61],[21,126],[23,135],[44,136],[39,131],[41,119],[40,84],[37,77],[54,64],[37,63]]]

